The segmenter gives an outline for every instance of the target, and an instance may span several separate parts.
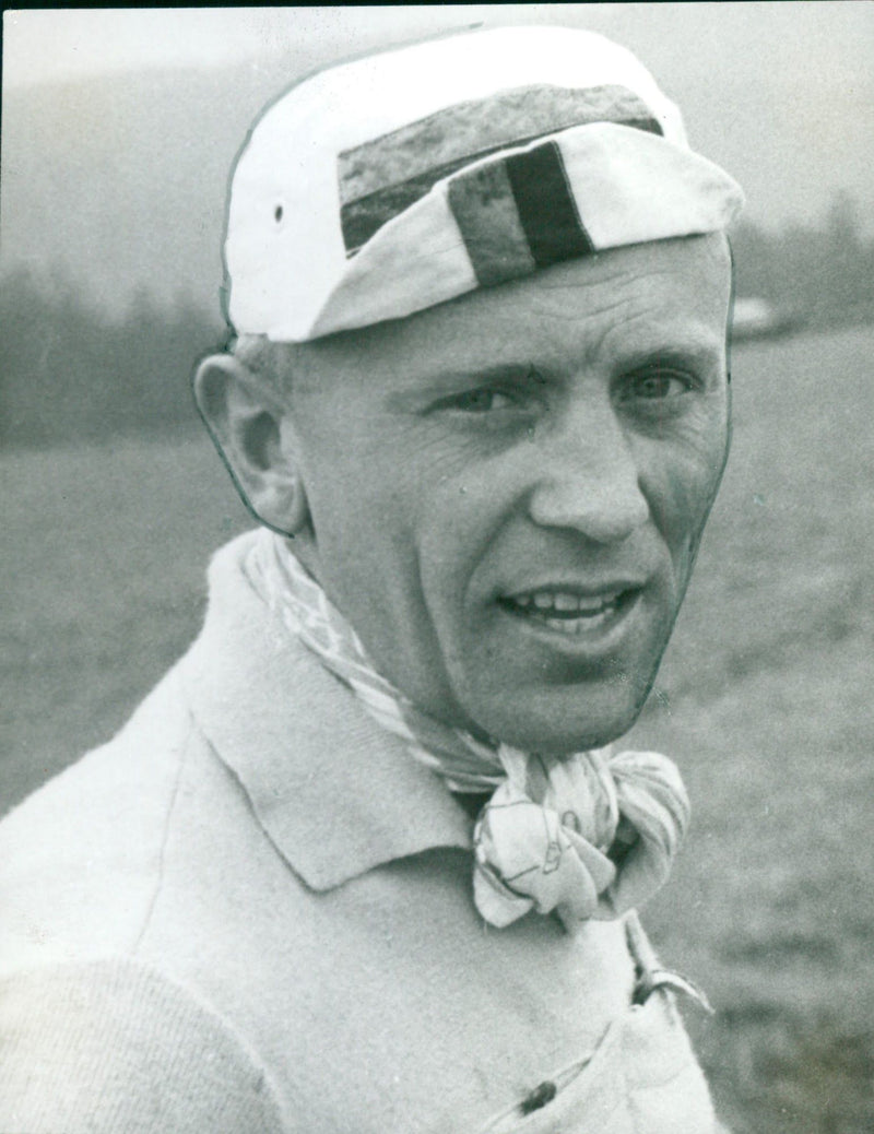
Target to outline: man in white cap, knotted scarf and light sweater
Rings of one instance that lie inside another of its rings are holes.
[[[263,525],[0,836],[0,1128],[713,1131],[634,722],[728,447],[735,183],[586,33],[322,73],[235,171],[200,409]]]

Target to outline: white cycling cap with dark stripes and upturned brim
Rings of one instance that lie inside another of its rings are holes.
[[[625,48],[543,26],[432,40],[321,71],[255,124],[231,183],[228,316],[300,342],[716,231],[741,206]]]

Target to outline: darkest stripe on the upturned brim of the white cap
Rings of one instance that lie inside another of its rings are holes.
[[[519,221],[538,268],[594,252],[554,142],[506,159]]]

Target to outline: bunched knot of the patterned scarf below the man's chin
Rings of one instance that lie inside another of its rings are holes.
[[[474,896],[493,925],[553,909],[566,925],[613,919],[670,874],[689,821],[677,767],[609,750],[550,763],[501,747],[507,780],[474,828]]]

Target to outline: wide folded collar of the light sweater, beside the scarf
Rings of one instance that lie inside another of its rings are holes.
[[[181,672],[197,726],[268,837],[314,890],[432,847],[469,849],[464,807],[254,592],[243,570],[253,538],[215,555]]]

